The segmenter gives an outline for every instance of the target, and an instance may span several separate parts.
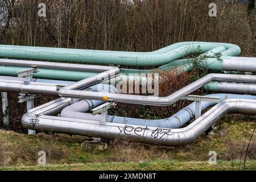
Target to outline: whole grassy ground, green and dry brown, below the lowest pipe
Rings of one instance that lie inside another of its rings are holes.
[[[81,143],[87,137],[0,130],[0,170],[238,170],[243,144],[246,148],[254,121],[255,117],[246,115],[226,115],[217,123],[216,135],[202,135],[188,146],[164,147],[115,139],[110,140],[106,151],[82,150]],[[241,169],[255,170],[255,135],[250,146],[246,168],[242,160]],[[47,165],[37,166],[42,150],[47,153]],[[215,166],[207,162],[209,151],[217,152]]]

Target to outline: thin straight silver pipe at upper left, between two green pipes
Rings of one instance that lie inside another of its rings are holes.
[[[22,67],[37,68],[50,68],[50,69],[65,69],[71,71],[90,71],[90,72],[105,72],[114,67],[100,66],[100,65],[88,65],[88,64],[69,64],[69,63],[57,63],[46,61],[28,61],[28,60],[16,60],[16,59],[0,59],[0,65],[14,65]]]

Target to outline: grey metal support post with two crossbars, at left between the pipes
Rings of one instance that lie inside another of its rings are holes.
[[[28,68],[18,72],[18,77],[25,77],[27,82],[33,81],[33,73],[39,72],[38,68]],[[27,102],[27,110],[34,108],[34,98],[38,97],[35,94],[20,94],[19,102]],[[28,135],[36,134],[35,130],[28,130]]]

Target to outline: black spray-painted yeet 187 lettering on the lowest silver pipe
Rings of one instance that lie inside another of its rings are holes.
[[[150,130],[147,126],[146,127],[133,127],[133,126],[128,126],[126,125],[125,127],[119,127],[118,129],[120,131],[120,134],[125,134],[125,135],[137,135],[140,137],[144,137],[144,134],[146,133],[146,131],[150,131],[151,132],[151,137],[154,138],[163,138],[164,136],[168,135],[172,135],[171,130],[169,129],[162,129],[162,128],[157,128],[155,130]]]

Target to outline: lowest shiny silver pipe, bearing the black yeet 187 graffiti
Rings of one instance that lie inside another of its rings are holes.
[[[256,101],[228,99],[219,102],[200,118],[182,129],[166,129],[98,122],[90,119],[73,119],[52,116],[68,105],[70,98],[59,98],[48,104],[29,110],[22,117],[27,129],[84,135],[96,138],[124,137],[138,142],[164,146],[183,146],[192,143],[207,131],[218,119],[228,113],[256,114]],[[46,115],[48,114],[48,115]]]

